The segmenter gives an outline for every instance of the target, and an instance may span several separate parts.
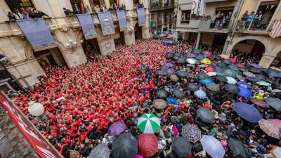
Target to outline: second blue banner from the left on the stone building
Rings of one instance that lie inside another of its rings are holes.
[[[91,14],[77,14],[77,18],[82,27],[85,39],[93,39],[96,37],[96,29],[95,25],[93,25]]]

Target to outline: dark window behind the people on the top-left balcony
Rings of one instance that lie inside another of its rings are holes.
[[[11,11],[14,11],[15,8],[20,10],[20,8],[25,8],[25,11],[29,11],[30,8],[34,8],[31,0],[5,0],[8,7]]]

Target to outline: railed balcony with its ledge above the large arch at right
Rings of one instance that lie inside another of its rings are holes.
[[[237,23],[236,31],[241,33],[268,34],[269,24],[270,20],[254,19],[251,22],[247,22],[247,20],[240,20]]]

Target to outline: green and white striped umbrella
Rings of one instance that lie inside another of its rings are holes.
[[[138,129],[143,133],[155,133],[160,128],[160,120],[154,114],[143,114],[138,117]]]

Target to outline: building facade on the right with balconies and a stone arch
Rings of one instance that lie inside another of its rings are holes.
[[[201,4],[201,13],[196,4]],[[280,7],[280,0],[179,1],[176,29],[196,47],[221,47],[228,55],[257,55],[262,67],[280,66],[281,37],[269,36],[275,21],[281,19]],[[244,18],[251,14],[253,19]]]

